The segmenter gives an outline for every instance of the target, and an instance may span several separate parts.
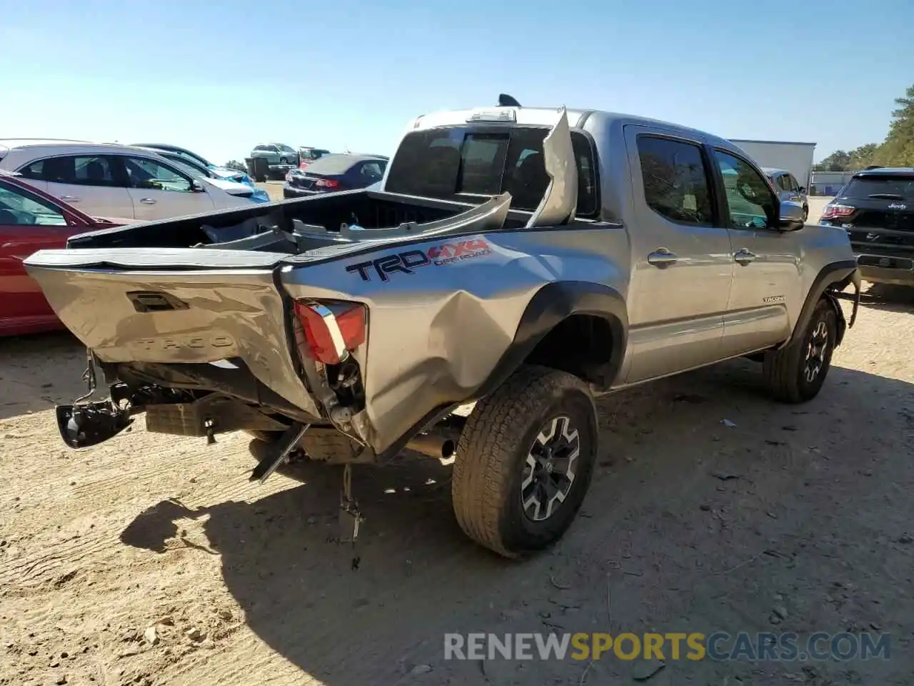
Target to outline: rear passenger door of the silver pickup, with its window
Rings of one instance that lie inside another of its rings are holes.
[[[644,381],[719,359],[733,258],[698,139],[628,125],[631,364]]]

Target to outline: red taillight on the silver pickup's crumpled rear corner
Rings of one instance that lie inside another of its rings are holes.
[[[353,303],[295,303],[304,331],[299,349],[324,364],[339,364],[365,343],[365,307]],[[303,345],[304,344],[304,345]]]

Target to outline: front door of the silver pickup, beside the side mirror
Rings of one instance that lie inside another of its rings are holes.
[[[802,231],[777,229],[781,204],[758,168],[714,149],[733,253],[733,287],[724,322],[725,357],[768,348],[791,334],[788,305],[802,298]]]

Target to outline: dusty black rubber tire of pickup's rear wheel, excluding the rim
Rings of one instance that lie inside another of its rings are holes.
[[[576,473],[546,520],[526,515],[521,484],[527,456],[558,415],[579,432]],[[463,427],[452,474],[454,515],[473,541],[508,558],[550,546],[568,530],[590,486],[599,429],[587,384],[564,371],[521,367],[476,403]]]

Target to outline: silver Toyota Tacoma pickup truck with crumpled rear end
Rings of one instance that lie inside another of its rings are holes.
[[[380,189],[80,234],[26,266],[111,392],[58,407],[69,446],[144,412],[254,434],[251,478],[293,451],[346,476],[452,457],[463,531],[507,557],[575,519],[595,396],[742,356],[808,401],[860,284],[846,232],[804,226],[728,141],[516,102],[420,116]],[[354,538],[348,488],[343,509]]]

